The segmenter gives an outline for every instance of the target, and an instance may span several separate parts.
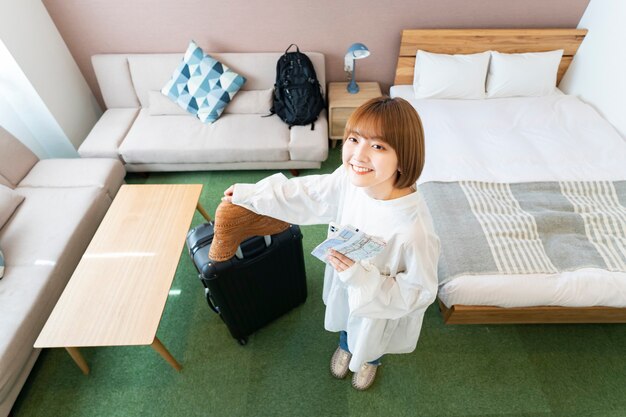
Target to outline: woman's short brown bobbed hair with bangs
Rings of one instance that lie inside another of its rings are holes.
[[[415,185],[424,168],[424,129],[417,111],[408,101],[396,97],[373,98],[357,108],[348,119],[343,141],[356,134],[380,139],[398,156],[394,187]]]

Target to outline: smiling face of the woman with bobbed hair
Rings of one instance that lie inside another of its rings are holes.
[[[398,157],[388,143],[350,134],[343,143],[341,159],[354,186],[363,187],[370,197],[378,200],[393,195]]]

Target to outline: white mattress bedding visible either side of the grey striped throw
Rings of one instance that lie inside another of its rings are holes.
[[[574,96],[489,100],[415,99],[393,86],[424,125],[426,165],[418,183],[625,180],[626,140]],[[447,306],[626,307],[626,273],[460,276],[439,289]]]

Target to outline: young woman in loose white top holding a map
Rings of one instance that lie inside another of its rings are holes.
[[[439,241],[415,183],[424,166],[424,133],[405,100],[380,97],[346,124],[342,166],[332,174],[235,184],[224,200],[294,224],[352,225],[387,242],[355,262],[328,253],[324,326],[340,332],[331,373],[371,386],[380,358],[415,349],[426,308],[437,293]]]

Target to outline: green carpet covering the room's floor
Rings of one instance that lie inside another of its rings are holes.
[[[340,161],[331,151],[322,170]],[[213,213],[223,190],[268,171],[129,175],[128,183],[202,183]],[[285,172],[289,176],[288,172]],[[196,213],[193,224],[202,222]],[[183,251],[158,337],[148,346],[82,349],[84,376],[63,349],[45,350],[13,416],[626,416],[626,325],[446,326],[435,305],[417,350],[389,355],[374,386],[331,377],[337,335],[323,326],[323,264],[309,253],[324,226],[303,227],[306,303],[240,346],[207,306]]]

